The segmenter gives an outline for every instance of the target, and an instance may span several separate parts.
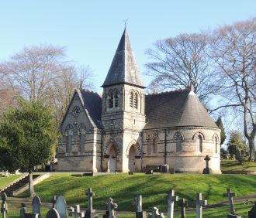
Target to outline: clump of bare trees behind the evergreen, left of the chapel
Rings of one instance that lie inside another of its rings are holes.
[[[12,88],[27,100],[50,105],[56,126],[61,123],[74,89],[93,87],[92,71],[66,60],[64,47],[25,47],[2,63],[0,69],[9,81],[5,83],[5,92]]]

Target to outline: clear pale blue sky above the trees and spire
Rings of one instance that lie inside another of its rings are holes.
[[[145,49],[157,39],[199,32],[256,15],[254,0],[167,1],[1,1],[0,61],[23,46],[47,43],[67,47],[67,59],[92,68],[95,86],[103,83],[124,19],[141,73],[149,62]],[[144,76],[148,85],[150,78]]]

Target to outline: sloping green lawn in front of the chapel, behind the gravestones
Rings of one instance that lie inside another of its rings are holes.
[[[127,175],[97,175],[94,177],[74,177],[68,173],[53,173],[49,179],[35,186],[35,191],[43,202],[51,202],[54,195],[64,196],[68,206],[80,204],[86,207],[85,191],[91,187],[95,192],[94,207],[106,209],[111,196],[117,203],[118,210],[133,211],[134,198],[143,196],[143,208],[149,211],[157,206],[161,211],[167,210],[166,197],[169,189],[188,200],[189,207],[194,208],[195,193],[202,192],[202,198],[208,204],[227,201],[223,193],[230,187],[237,196],[255,194],[255,175],[195,175],[195,174],[154,174],[135,173]],[[28,196],[28,192],[21,196]]]

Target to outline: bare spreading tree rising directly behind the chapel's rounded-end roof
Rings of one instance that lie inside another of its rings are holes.
[[[154,77],[151,90],[181,89],[192,85],[199,99],[205,103],[216,87],[210,59],[206,55],[209,41],[205,34],[182,34],[160,40],[155,49],[147,49],[154,62],[147,63],[149,75]]]

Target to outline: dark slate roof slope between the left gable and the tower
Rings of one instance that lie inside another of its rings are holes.
[[[98,93],[89,90],[78,90],[81,94],[85,111],[88,112],[89,117],[97,128],[102,128],[101,114],[102,114],[102,97]]]

